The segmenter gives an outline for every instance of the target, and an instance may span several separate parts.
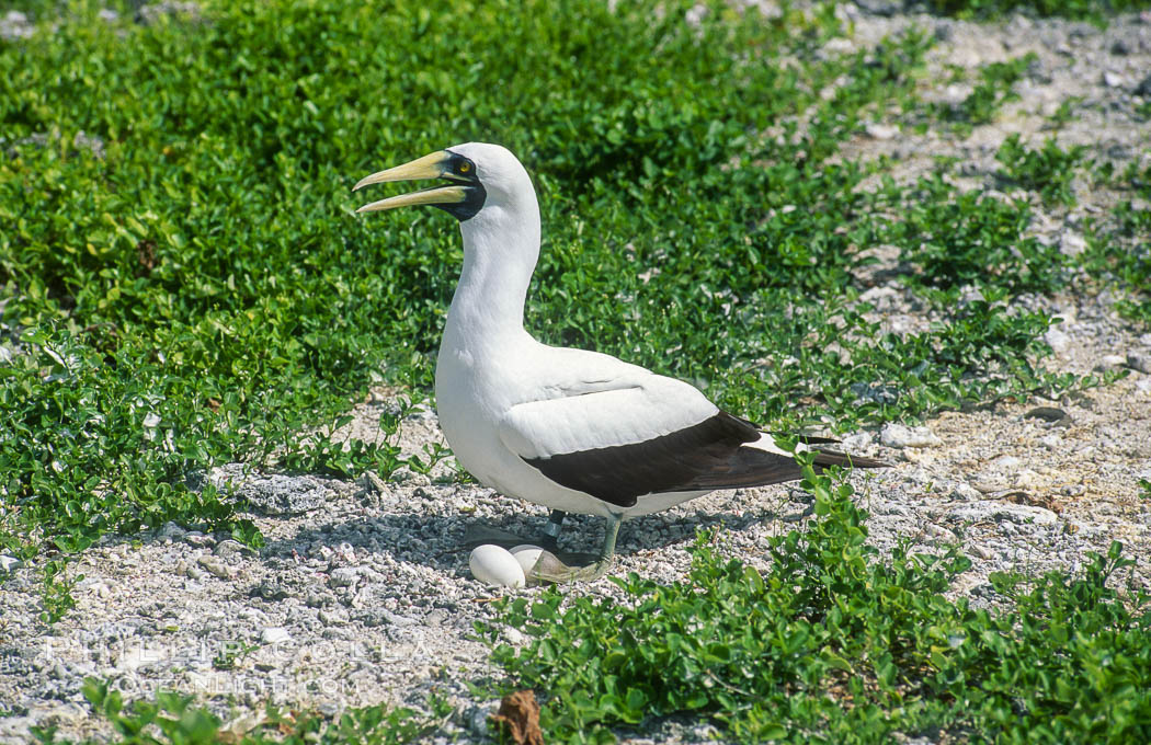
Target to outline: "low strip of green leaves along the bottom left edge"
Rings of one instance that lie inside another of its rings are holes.
[[[410,708],[368,706],[330,719],[269,706],[262,715],[228,727],[211,711],[196,706],[191,697],[177,693],[161,691],[154,700],[125,705],[120,691],[89,678],[84,697],[93,713],[112,725],[113,745],[401,745],[425,742],[437,727],[435,720],[449,711],[435,698],[429,701],[432,717]],[[58,738],[54,729],[35,729],[33,735],[44,745],[70,742]],[[94,742],[108,740],[85,740]]]

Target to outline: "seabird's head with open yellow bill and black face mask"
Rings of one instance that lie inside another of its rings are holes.
[[[364,205],[356,212],[433,205],[464,222],[486,207],[513,206],[524,199],[525,193],[531,194],[534,201],[532,182],[519,160],[508,148],[487,143],[456,145],[372,174],[360,179],[352,191],[369,184],[425,178],[436,178],[441,183]]]

